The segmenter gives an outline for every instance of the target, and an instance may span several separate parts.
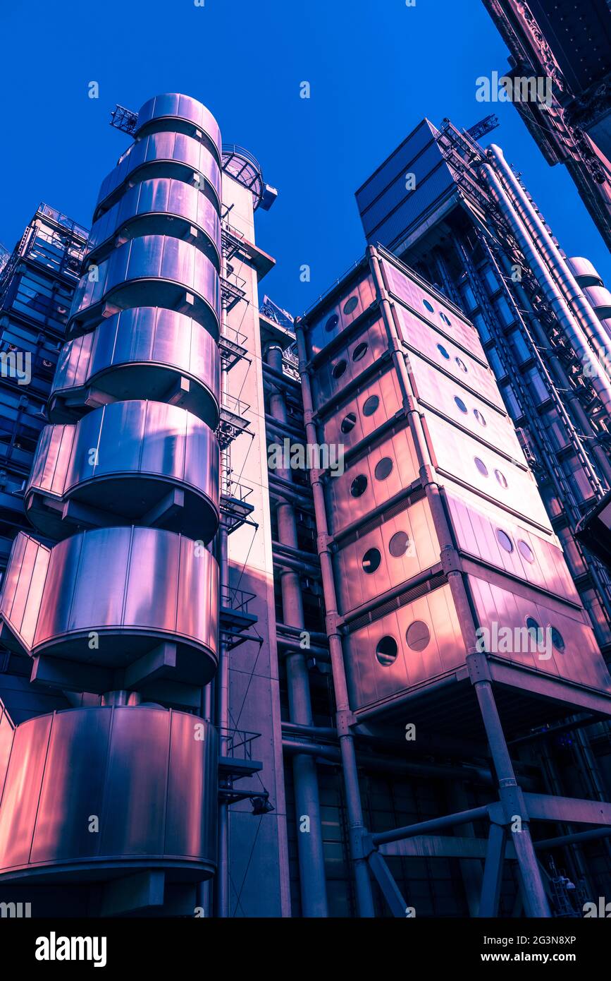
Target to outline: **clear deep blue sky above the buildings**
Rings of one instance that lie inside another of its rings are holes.
[[[278,187],[271,211],[258,213],[258,242],[277,259],[261,285],[301,313],[362,252],[353,192],[407,132],[423,116],[470,127],[494,111],[490,139],[567,253],[587,255],[611,286],[608,253],[564,169],[547,166],[513,106],[475,99],[476,78],[507,65],[481,0],[13,0],[0,31],[9,247],[40,200],[90,224],[100,182],[128,144],[109,126],[116,103],[137,110],[185,92]],[[98,99],[88,97],[92,80]]]

